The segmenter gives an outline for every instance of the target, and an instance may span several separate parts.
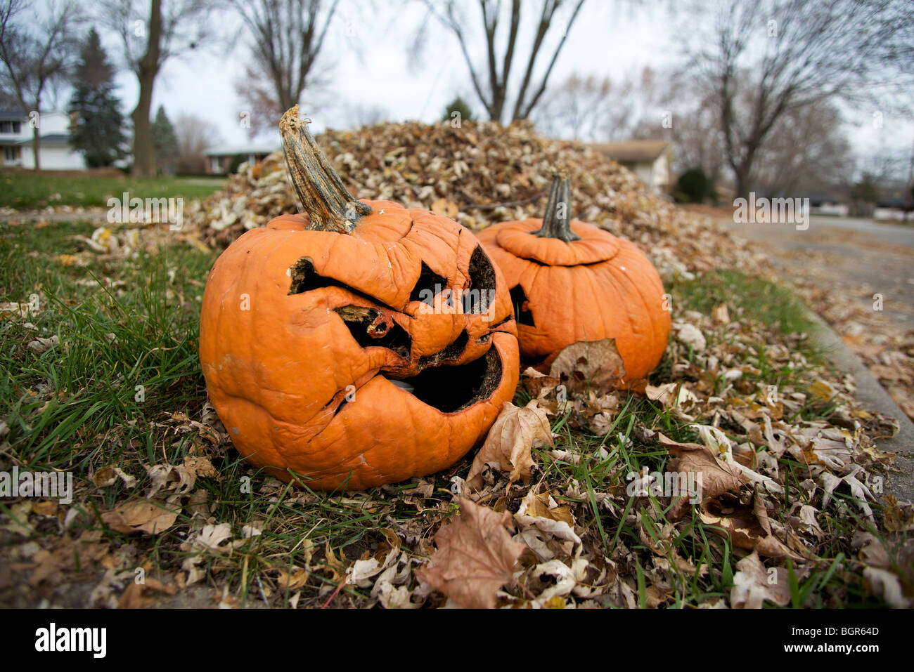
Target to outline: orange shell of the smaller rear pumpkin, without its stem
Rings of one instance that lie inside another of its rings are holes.
[[[547,368],[571,343],[614,338],[625,362],[623,383],[645,378],[670,332],[663,282],[632,242],[584,222],[569,225],[579,240],[534,235],[543,226],[537,218],[478,234],[508,287],[526,295],[533,325],[516,316],[521,355]]]

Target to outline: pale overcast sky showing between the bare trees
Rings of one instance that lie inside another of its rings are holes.
[[[364,18],[356,9],[365,4],[366,0],[343,3],[345,13],[335,17],[335,26],[321,54],[319,68],[332,84],[329,91],[322,91],[314,100],[338,103],[315,109],[309,105],[305,92],[303,112],[314,121],[315,131],[347,126],[351,117],[347,117],[345,108],[352,105],[388,110],[391,121],[430,122],[440,119],[444,106],[460,93],[477,114],[482,110],[473,95],[456,40],[440,26],[427,26],[421,58],[410,60],[409,44],[425,16],[420,3],[374,0],[376,9],[369,13],[370,18]],[[475,9],[475,3],[467,5],[468,11]],[[532,18],[534,13],[527,14]],[[478,21],[475,13],[472,16]],[[223,36],[221,44],[169,61],[156,80],[153,112],[162,104],[172,121],[182,113],[206,117],[218,127],[225,142],[250,142],[247,131],[239,124],[239,111],[244,105],[235,91],[246,66],[247,37],[239,33],[239,23],[230,16],[218,16],[217,20]],[[679,56],[676,31],[688,29],[674,21],[668,3],[662,0],[646,0],[639,7],[590,0],[569,31],[569,40],[550,82],[557,83],[572,72],[618,80],[640,72],[644,66],[662,69],[675,63]],[[530,32],[526,30],[527,35]],[[114,58],[119,53],[117,41],[110,35],[102,35],[102,39]],[[478,47],[477,56],[482,62],[484,51],[482,45]],[[521,50],[520,54],[526,51]],[[545,56],[544,53],[541,58]],[[515,70],[526,65],[519,61]],[[130,72],[122,72],[117,81],[124,111],[129,113],[137,98],[136,78]],[[874,114],[880,112],[875,100],[869,108],[845,112],[847,134],[856,152],[907,152],[914,142],[914,123],[910,119],[882,112],[881,128],[874,122]],[[278,145],[278,134],[275,142]]]

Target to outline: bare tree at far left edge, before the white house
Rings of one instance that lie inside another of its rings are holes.
[[[0,3],[0,58],[3,59],[4,89],[29,117],[35,170],[40,162],[40,113],[48,87],[65,79],[79,48],[72,30],[79,21],[76,5],[69,0],[49,3],[44,11],[25,18],[27,0]],[[38,115],[32,116],[34,114]]]

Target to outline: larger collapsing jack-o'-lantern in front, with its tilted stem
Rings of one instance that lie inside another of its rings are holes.
[[[286,481],[364,489],[440,471],[515,394],[505,279],[451,219],[354,200],[306,123],[298,106],[280,123],[305,213],[248,231],[209,273],[210,400],[240,454]]]

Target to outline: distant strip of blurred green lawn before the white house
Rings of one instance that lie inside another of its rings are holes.
[[[0,207],[29,210],[48,205],[107,206],[112,196],[131,198],[205,198],[225,183],[222,177],[56,175],[28,171],[0,172]]]

